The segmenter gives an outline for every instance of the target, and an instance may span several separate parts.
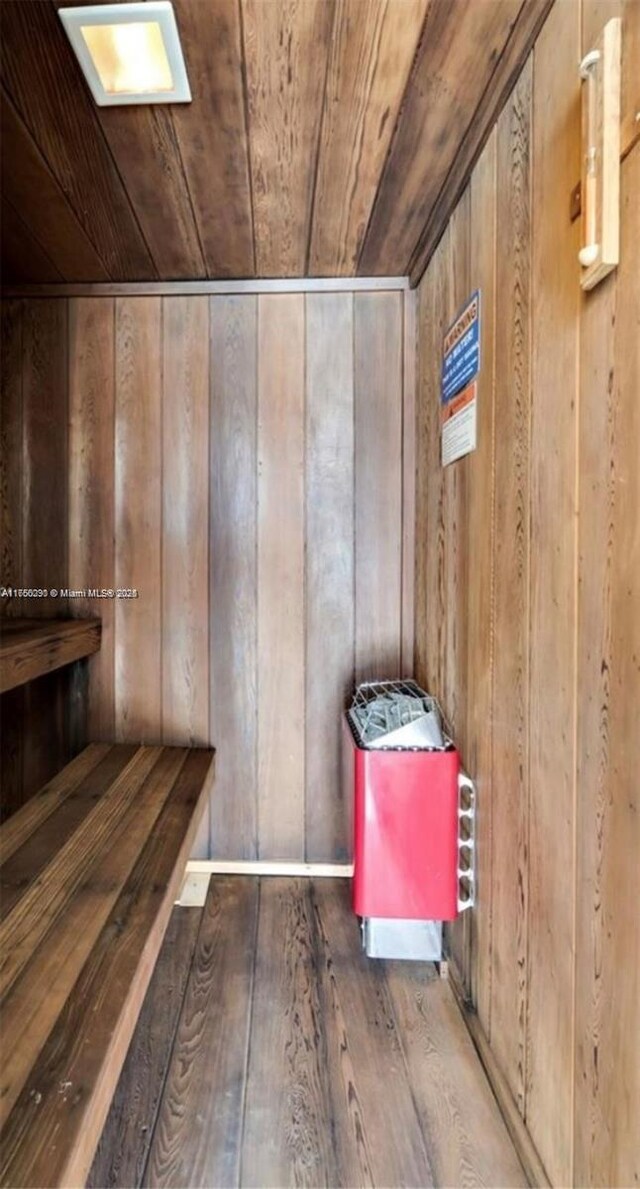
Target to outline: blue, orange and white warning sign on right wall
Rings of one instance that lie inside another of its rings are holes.
[[[448,327],[443,350],[443,466],[476,449],[481,342],[477,289]]]

